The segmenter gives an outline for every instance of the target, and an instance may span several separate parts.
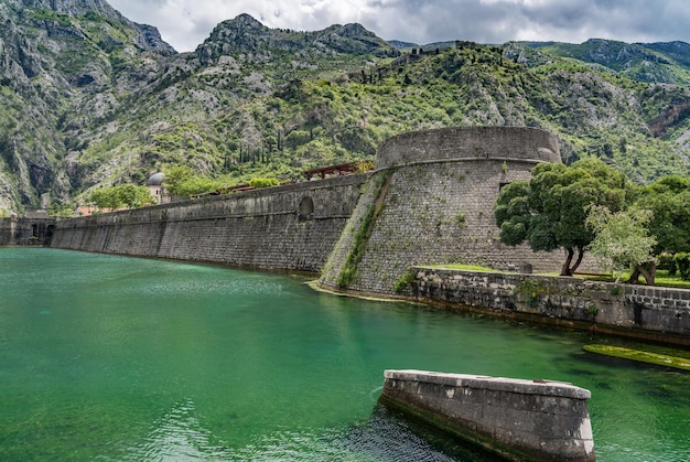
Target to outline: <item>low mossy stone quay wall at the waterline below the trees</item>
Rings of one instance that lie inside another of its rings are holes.
[[[690,290],[425,267],[412,272],[418,300],[690,345]]]

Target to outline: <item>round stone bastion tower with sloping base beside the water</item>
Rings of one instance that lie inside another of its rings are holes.
[[[321,284],[393,293],[408,268],[422,264],[559,270],[560,253],[506,246],[494,219],[500,187],[529,180],[540,162],[561,162],[558,140],[531,128],[446,128],[385,141]]]

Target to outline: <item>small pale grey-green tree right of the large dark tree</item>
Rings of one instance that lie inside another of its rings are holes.
[[[647,229],[651,216],[651,211],[637,207],[616,213],[602,205],[590,207],[586,224],[595,237],[587,249],[613,271],[618,271],[616,282],[626,268],[638,268],[654,260],[657,239]],[[647,283],[654,284],[655,271],[643,268],[642,272]]]

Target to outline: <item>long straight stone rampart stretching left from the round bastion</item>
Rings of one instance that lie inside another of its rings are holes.
[[[342,176],[65,219],[52,247],[316,272],[366,180]]]

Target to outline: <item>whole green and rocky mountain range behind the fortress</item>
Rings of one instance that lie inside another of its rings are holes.
[[[103,0],[0,0],[0,214],[185,164],[219,184],[370,160],[386,138],[516,125],[645,183],[690,174],[690,45],[449,42],[241,14],[191,53]],[[393,44],[396,46],[393,46]],[[645,71],[645,72],[643,72]]]

